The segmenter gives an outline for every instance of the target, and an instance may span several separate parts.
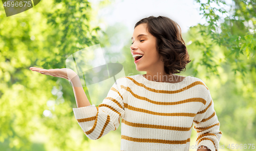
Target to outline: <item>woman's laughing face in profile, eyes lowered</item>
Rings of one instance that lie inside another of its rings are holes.
[[[135,61],[137,71],[154,72],[163,67],[161,56],[157,52],[156,40],[155,36],[146,31],[146,24],[140,24],[134,29],[131,53],[136,52],[143,55],[140,60]]]

